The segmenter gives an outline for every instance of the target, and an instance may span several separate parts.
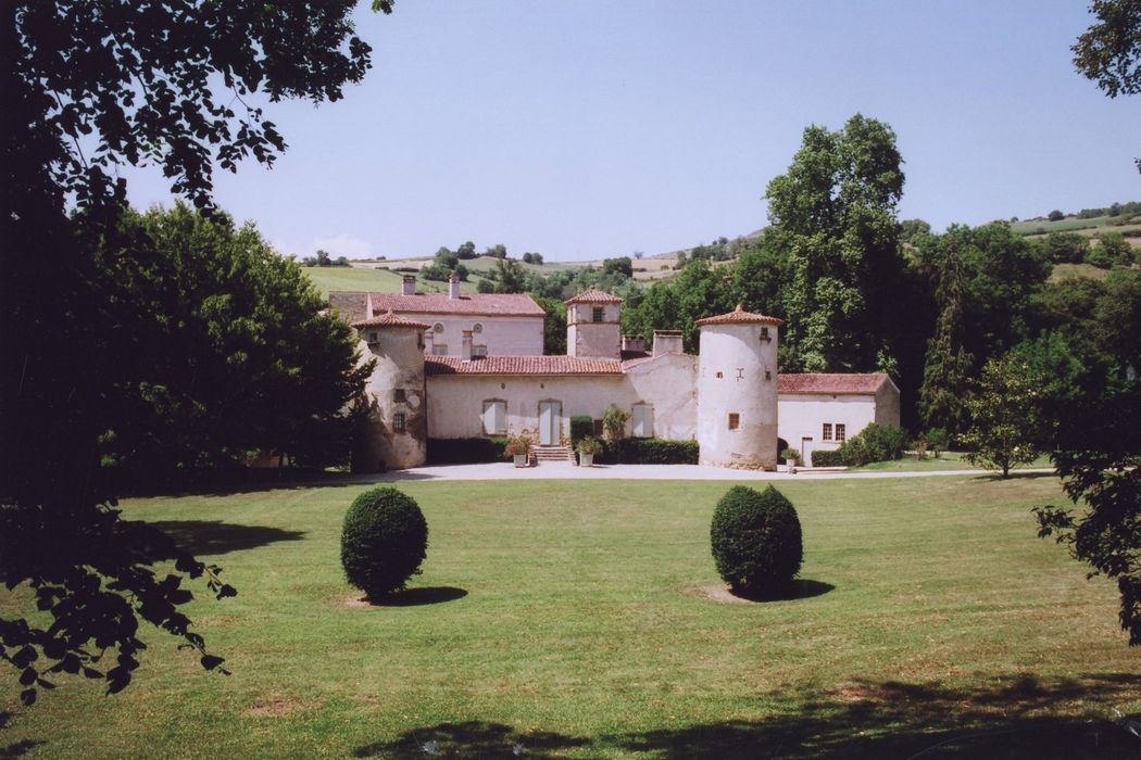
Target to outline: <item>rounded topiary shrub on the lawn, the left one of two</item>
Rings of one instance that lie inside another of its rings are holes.
[[[349,583],[377,599],[404,588],[428,551],[428,523],[395,488],[358,496],[345,515],[341,564]]]

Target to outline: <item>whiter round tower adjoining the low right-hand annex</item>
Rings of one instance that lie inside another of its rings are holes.
[[[777,328],[745,311],[698,319],[697,443],[703,465],[777,466]]]

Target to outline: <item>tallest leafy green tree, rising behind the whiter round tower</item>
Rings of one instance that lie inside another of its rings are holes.
[[[790,256],[790,369],[896,368],[901,165],[891,128],[857,114],[836,132],[806,129],[788,171],[769,182],[769,234]]]

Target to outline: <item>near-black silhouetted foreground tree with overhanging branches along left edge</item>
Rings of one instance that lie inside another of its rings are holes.
[[[50,673],[123,688],[140,621],[219,665],[178,612],[192,596],[181,582],[205,575],[215,595],[233,589],[161,533],[122,521],[100,466],[100,444],[129,422],[107,425],[108,411],[141,390],[115,358],[143,351],[148,329],[122,317],[155,273],[140,260],[138,281],[100,287],[100,268],[147,250],[120,223],[116,167],[155,166],[176,194],[210,207],[215,164],[268,165],[284,149],[268,104],[335,100],[362,79],[370,49],[354,34],[353,5],[3,3],[0,580],[31,587],[47,613],[0,619],[0,660],[17,669],[25,702]],[[155,574],[151,563],[176,555],[175,572]]]

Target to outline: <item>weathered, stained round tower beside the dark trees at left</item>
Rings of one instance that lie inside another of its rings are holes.
[[[367,434],[353,453],[354,472],[422,465],[428,451],[424,330],[430,325],[391,311],[353,322],[377,366],[365,383]]]

